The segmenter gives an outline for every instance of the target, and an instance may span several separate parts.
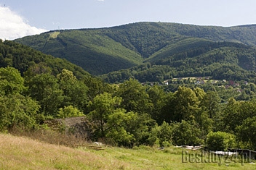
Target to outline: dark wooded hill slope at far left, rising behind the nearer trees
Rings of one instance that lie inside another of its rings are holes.
[[[59,74],[65,68],[71,70],[76,77],[90,77],[88,72],[65,59],[42,54],[40,51],[23,46],[20,43],[15,43],[14,41],[0,41],[0,67],[15,67],[23,75],[23,72],[35,64],[43,64],[51,68],[53,75]]]

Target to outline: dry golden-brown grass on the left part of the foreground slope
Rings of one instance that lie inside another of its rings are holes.
[[[0,134],[0,169],[136,169],[114,158]]]

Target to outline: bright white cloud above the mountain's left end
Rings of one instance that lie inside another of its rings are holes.
[[[22,17],[12,12],[8,7],[0,7],[0,39],[14,40],[45,31],[47,30],[28,25]]]

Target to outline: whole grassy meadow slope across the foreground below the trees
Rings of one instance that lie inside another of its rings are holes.
[[[255,169],[255,164],[182,163],[181,150],[67,148],[0,134],[0,169]]]

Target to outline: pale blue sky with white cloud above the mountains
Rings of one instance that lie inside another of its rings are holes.
[[[0,0],[0,38],[133,22],[256,24],[255,0]]]

